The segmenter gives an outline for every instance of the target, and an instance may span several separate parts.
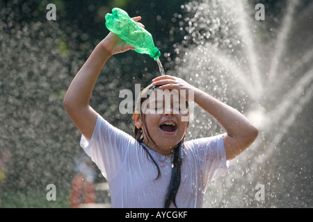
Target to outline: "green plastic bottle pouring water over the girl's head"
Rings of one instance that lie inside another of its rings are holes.
[[[134,22],[125,10],[113,8],[112,14],[106,14],[106,28],[124,42],[133,44],[136,52],[148,54],[154,60],[161,56],[159,49],[154,46],[152,35]]]

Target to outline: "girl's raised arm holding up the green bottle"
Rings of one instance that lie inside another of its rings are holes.
[[[138,22],[141,17],[133,19]],[[118,35],[109,33],[95,47],[67,89],[63,105],[70,119],[88,140],[91,139],[97,122],[97,112],[90,107],[89,101],[100,71],[113,54],[129,49],[135,48],[131,44],[125,44]]]

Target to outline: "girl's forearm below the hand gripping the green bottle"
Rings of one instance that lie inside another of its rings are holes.
[[[87,107],[90,96],[102,67],[111,53],[100,42],[67,89],[63,104],[65,107]]]

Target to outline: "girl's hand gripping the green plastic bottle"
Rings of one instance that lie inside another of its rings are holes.
[[[145,26],[143,24],[138,22],[139,20],[141,20],[140,16],[134,17],[131,19],[133,19],[140,26],[145,28]],[[109,35],[107,35],[104,38],[104,40],[102,40],[102,42],[100,42],[100,44],[104,47],[104,49],[109,51],[109,53],[111,53],[111,55],[114,55],[117,53],[123,53],[125,51],[128,51],[129,49],[131,49],[131,50],[135,49],[134,45],[132,45],[130,43],[125,43],[123,40],[120,39],[120,37],[118,37],[118,35],[116,35],[115,33],[111,33],[111,32],[109,33]]]

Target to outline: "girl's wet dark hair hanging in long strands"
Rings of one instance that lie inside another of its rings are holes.
[[[140,114],[141,121],[143,123],[143,126],[145,126],[145,114],[141,112],[141,105],[143,104],[144,101],[150,98],[150,94],[152,90],[156,89],[157,87],[154,85],[149,85],[145,89],[141,91],[141,94],[139,94],[137,103],[136,103],[136,112]],[[188,102],[186,101],[186,107],[188,108]],[[146,130],[147,131],[147,130]],[[153,141],[152,137],[150,136],[150,133],[147,131],[147,139],[151,139],[152,142],[155,144]],[[158,175],[155,180],[157,180],[161,176],[161,171],[159,169],[159,165],[157,162],[154,160],[152,155],[149,153],[147,150],[147,145],[143,144],[143,136],[145,133],[143,133],[143,130],[141,128],[137,128],[135,126],[134,129],[134,137],[135,139],[141,144],[143,149],[147,152],[147,155],[151,158],[152,162],[155,164],[158,170]],[[168,186],[168,194],[166,195],[166,201],[164,203],[164,207],[168,208],[170,207],[170,203],[173,203],[175,207],[176,205],[176,194],[179,189],[180,181],[181,181],[181,172],[182,172],[182,159],[184,157],[184,139],[185,137],[182,138],[182,140],[175,146],[173,149],[173,164],[172,164],[172,175],[170,177],[170,184]]]

